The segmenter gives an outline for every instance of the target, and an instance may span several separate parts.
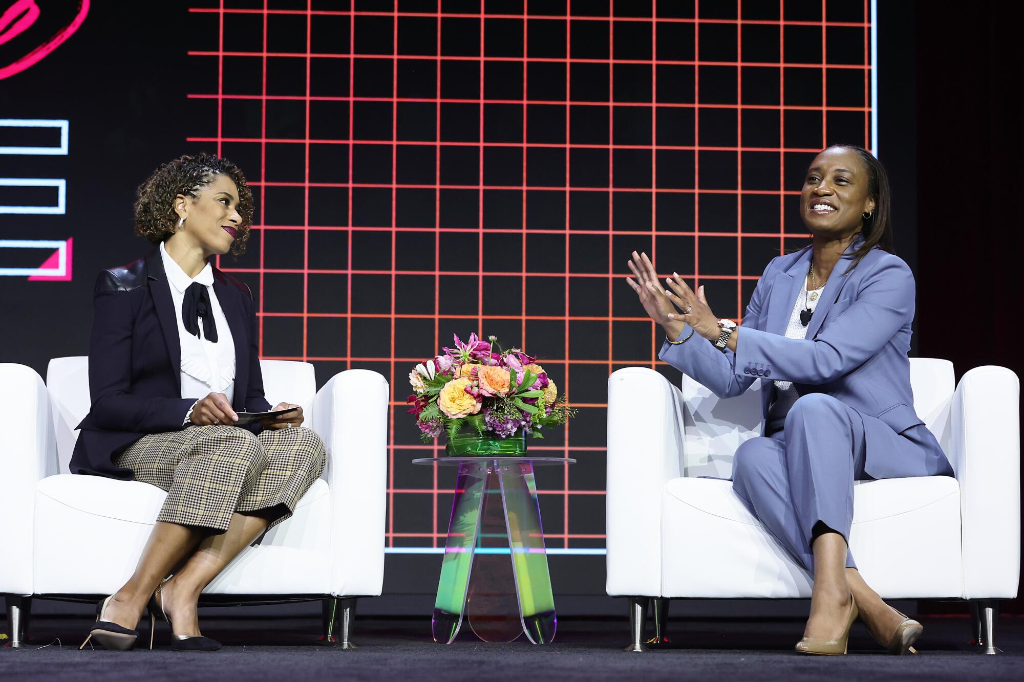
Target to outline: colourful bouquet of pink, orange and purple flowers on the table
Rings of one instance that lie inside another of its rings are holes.
[[[466,426],[483,437],[530,434],[543,438],[546,426],[564,424],[575,415],[537,358],[518,348],[502,350],[498,338],[469,341],[455,336],[455,348],[413,368],[407,398],[421,437],[441,433],[455,438]],[[497,348],[497,351],[496,351]]]

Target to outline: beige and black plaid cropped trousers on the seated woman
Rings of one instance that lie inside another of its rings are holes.
[[[312,429],[265,429],[259,435],[236,426],[189,426],[151,433],[114,460],[135,480],[167,491],[158,521],[222,532],[234,512],[280,512],[268,528],[295,510],[327,463]]]

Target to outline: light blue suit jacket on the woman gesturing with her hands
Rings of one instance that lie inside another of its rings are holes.
[[[907,357],[913,274],[903,259],[879,248],[848,271],[860,244],[854,242],[833,269],[806,339],[786,338],[785,328],[810,267],[810,247],[768,263],[746,306],[735,353],[694,335],[680,345],[666,342],[658,356],[719,397],[739,395],[760,380],[764,415],[776,396],[774,381],[792,381],[801,395],[842,400],[864,418],[864,470],[874,478],[951,475],[938,441],[913,411]],[[680,339],[690,331],[687,326]],[[893,432],[920,447],[885,452]]]

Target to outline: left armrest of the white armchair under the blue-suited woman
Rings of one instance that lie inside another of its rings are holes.
[[[682,392],[653,370],[608,377],[607,582],[611,596],[662,594],[662,492],[683,461]]]

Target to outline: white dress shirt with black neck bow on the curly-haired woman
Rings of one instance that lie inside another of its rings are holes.
[[[224,311],[220,308],[220,301],[213,291],[213,268],[207,263],[199,274],[189,278],[167,253],[163,243],[160,245],[160,256],[164,259],[164,272],[170,284],[174,319],[177,321],[178,339],[181,342],[181,397],[198,399],[216,392],[223,393],[227,396],[227,401],[231,402],[234,397],[234,339]],[[216,343],[202,336],[202,321],[199,324],[200,336],[197,337],[185,330],[181,319],[185,290],[194,282],[205,286],[210,294],[210,306],[217,326]],[[185,423],[190,416],[191,410],[185,416]]]

